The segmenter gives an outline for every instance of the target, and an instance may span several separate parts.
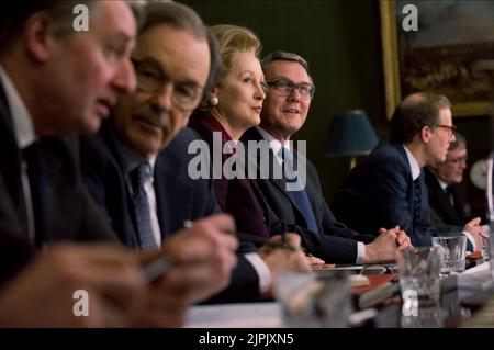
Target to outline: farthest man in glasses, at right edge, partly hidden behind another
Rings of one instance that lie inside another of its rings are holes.
[[[459,184],[467,169],[467,139],[460,133],[449,146],[446,160],[425,168],[425,180],[429,199],[430,226],[441,230],[459,232],[469,216]],[[467,230],[479,225],[480,217],[467,224]],[[469,228],[468,226],[472,226]]]

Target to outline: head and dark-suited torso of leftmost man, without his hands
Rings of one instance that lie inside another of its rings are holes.
[[[71,31],[61,26],[71,16],[69,8],[63,20],[49,16],[50,10],[63,8],[33,1],[23,10],[25,13],[13,4],[2,11],[0,227],[38,247],[53,240],[115,240],[79,181],[75,139],[56,135],[96,131],[105,114],[104,103],[134,86],[125,55],[114,64],[94,56],[76,59],[87,54],[83,45],[99,41],[93,32],[70,36],[67,45],[55,39],[59,52],[52,53],[54,48],[47,44],[52,39],[49,31]],[[135,20],[127,5],[116,2],[90,8],[109,19],[121,16],[108,30],[111,35],[122,36],[122,49],[128,50]],[[24,15],[32,15],[33,21],[27,22]],[[102,25],[101,21],[91,24]],[[31,31],[31,42],[24,43],[20,32],[9,32],[19,30],[16,25]],[[100,54],[103,49],[96,46],[89,53]],[[83,70],[75,84],[71,75],[79,69]],[[89,78],[91,71],[93,76]]]

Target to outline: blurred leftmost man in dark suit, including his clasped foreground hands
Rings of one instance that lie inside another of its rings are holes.
[[[74,9],[80,4],[89,11],[89,31],[72,27]],[[222,234],[233,229],[227,217],[198,223],[202,229],[189,230],[155,253],[136,256],[111,246],[49,247],[19,272],[33,257],[34,246],[61,240],[117,242],[80,181],[77,139],[61,135],[96,132],[116,97],[134,89],[130,52],[135,32],[134,15],[123,1],[32,0],[2,7],[0,241],[2,249],[15,249],[0,256],[0,275],[9,282],[0,290],[2,325],[74,320],[70,307],[59,309],[61,314],[47,313],[44,298],[74,304],[67,287],[76,284],[87,287],[98,309],[81,325],[178,325],[190,303],[228,281],[236,240]],[[8,260],[12,255],[15,261]],[[162,256],[176,263],[148,285],[139,261]],[[190,259],[197,258],[204,258],[203,263],[191,269]],[[50,274],[54,263],[64,268]],[[200,275],[198,268],[203,269]],[[32,316],[43,319],[20,314],[19,295],[29,298]],[[138,305],[125,300],[134,296]],[[161,307],[150,307],[157,303]]]

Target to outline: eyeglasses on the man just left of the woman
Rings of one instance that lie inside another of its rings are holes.
[[[155,60],[137,60],[131,58],[137,77],[137,90],[156,93],[168,83],[172,84],[171,102],[183,111],[198,106],[203,87],[193,81],[172,81],[166,68]]]

